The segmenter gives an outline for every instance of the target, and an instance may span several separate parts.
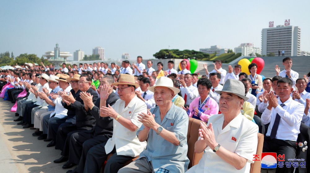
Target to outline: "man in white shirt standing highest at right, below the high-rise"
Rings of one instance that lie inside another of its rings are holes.
[[[282,60],[282,64],[284,65],[284,70],[280,72],[280,67],[276,65],[277,76],[281,76],[282,78],[290,78],[293,81],[293,90],[295,91],[296,80],[299,78],[299,74],[292,70],[293,60],[290,57],[286,57]]]

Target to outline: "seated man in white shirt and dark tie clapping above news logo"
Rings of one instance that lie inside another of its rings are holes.
[[[264,138],[263,152],[273,152],[284,155],[284,162],[295,158],[297,137],[300,133],[299,127],[303,117],[304,106],[290,97],[293,91],[293,82],[289,78],[280,78],[277,81],[277,94],[271,91],[268,99],[267,109],[263,112],[261,120],[263,124],[269,124]],[[292,172],[290,168],[277,167],[276,172]]]

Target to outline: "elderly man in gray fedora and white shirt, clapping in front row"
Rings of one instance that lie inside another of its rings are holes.
[[[250,172],[257,148],[258,126],[241,114],[245,96],[244,85],[228,79],[220,94],[219,110],[208,124],[200,123],[195,152],[204,152],[201,160],[187,172]]]

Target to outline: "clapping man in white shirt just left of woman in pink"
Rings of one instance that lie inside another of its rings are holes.
[[[187,73],[184,75],[184,80],[179,80],[179,82],[183,86],[183,88],[180,89],[185,104],[192,103],[192,101],[199,96],[198,89],[194,87],[192,83],[193,75],[191,73]]]

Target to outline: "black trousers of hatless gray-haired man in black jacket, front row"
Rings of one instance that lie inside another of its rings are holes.
[[[78,165],[83,162],[84,165],[88,150],[95,145],[107,142],[108,139],[107,136],[96,135],[91,130],[73,133],[70,137],[69,163]]]

